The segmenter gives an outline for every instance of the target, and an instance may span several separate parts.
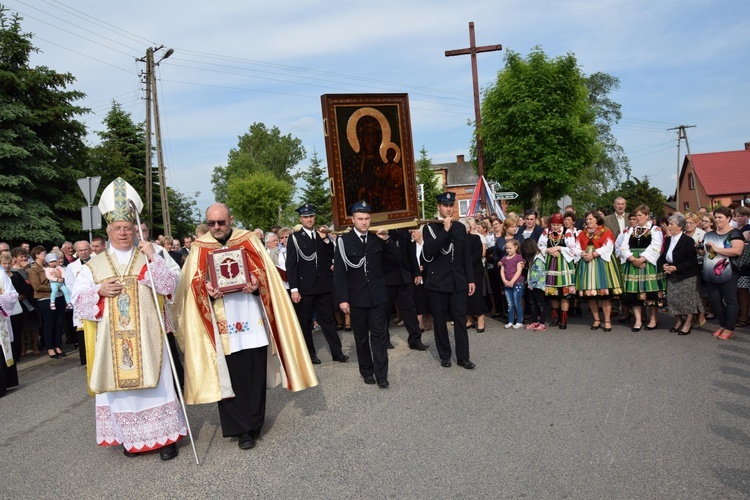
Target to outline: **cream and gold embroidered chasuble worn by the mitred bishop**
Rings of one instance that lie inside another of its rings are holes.
[[[161,327],[151,289],[138,282],[145,272],[146,258],[134,248],[127,264],[120,265],[109,252],[102,252],[86,265],[95,283],[114,277],[123,285],[116,297],[99,301],[99,307],[103,308],[101,321],[87,321],[96,325],[94,357],[88,360],[90,391],[101,394],[156,387],[163,341],[161,335],[153,333]],[[86,347],[88,352],[88,342]]]

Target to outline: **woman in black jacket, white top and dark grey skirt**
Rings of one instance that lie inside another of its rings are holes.
[[[684,232],[686,226],[682,214],[667,219],[669,235],[664,240],[659,259],[667,279],[669,314],[677,320],[669,331],[677,335],[689,334],[693,318],[703,311],[698,295],[698,254],[695,241]]]

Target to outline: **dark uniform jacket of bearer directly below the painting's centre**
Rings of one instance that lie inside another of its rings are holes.
[[[365,264],[349,267],[341,256],[346,254],[349,262]],[[338,239],[333,263],[333,279],[336,288],[336,303],[348,302],[352,307],[372,307],[388,302],[388,291],[383,277],[383,263],[390,260],[398,265],[401,253],[392,238],[383,241],[374,234],[367,236],[367,247],[353,230]]]

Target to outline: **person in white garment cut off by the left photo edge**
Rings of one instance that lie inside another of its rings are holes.
[[[10,254],[8,253],[6,256],[6,258],[9,258]],[[8,276],[10,260],[3,261],[3,267],[5,269],[0,271],[0,274],[2,274],[0,276],[0,351],[2,351],[0,363],[3,364],[0,367],[0,398],[5,396],[8,387],[18,385],[18,369],[13,359],[12,346],[15,346],[16,342],[23,341],[21,336],[23,332],[18,332],[18,338],[14,342],[13,328],[10,323],[10,317],[13,314],[18,314],[21,309],[21,305],[18,303],[18,292],[16,292]]]

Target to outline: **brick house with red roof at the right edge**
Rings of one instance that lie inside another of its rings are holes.
[[[746,199],[750,199],[750,142],[739,151],[685,155],[677,210],[695,212],[700,207],[742,204]]]

